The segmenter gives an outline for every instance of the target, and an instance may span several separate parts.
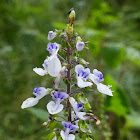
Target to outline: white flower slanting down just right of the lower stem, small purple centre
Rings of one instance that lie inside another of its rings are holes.
[[[71,106],[73,107],[76,116],[81,120],[89,119],[89,117],[86,116],[85,112],[80,112],[81,109],[83,109],[83,103],[77,103],[73,97],[69,97],[69,102]]]

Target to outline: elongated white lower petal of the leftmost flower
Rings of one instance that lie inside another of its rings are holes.
[[[35,106],[38,103],[38,101],[39,100],[37,98],[33,98],[33,97],[28,98],[22,103],[21,108],[24,109],[24,108]]]

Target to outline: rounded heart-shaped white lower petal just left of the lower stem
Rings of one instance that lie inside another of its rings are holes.
[[[59,113],[60,111],[62,111],[63,109],[63,105],[62,104],[59,104],[57,108],[54,108],[55,106],[55,102],[53,101],[50,101],[48,104],[47,104],[47,109],[48,109],[48,112],[50,114],[57,114]],[[54,110],[55,109],[55,110]]]

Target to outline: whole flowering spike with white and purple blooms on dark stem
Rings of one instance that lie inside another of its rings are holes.
[[[77,135],[84,137],[85,140],[92,139],[87,122],[95,120],[96,124],[100,125],[100,120],[89,110],[90,107],[88,106],[90,104],[84,93],[80,92],[80,89],[92,87],[95,84],[99,92],[113,96],[111,86],[101,83],[104,81],[102,72],[97,69],[90,72],[90,69],[87,68],[88,63],[84,59],[77,57],[80,51],[86,48],[86,43],[73,29],[74,20],[75,11],[72,9],[69,12],[66,29],[49,31],[48,40],[52,41],[54,38],[60,37],[62,44],[48,43],[46,50],[50,53],[50,56],[47,56],[44,60],[43,68],[36,67],[33,69],[40,76],[50,75],[54,77],[53,87],[36,87],[33,90],[33,94],[36,97],[26,99],[21,106],[22,109],[29,108],[35,106],[44,96],[52,96],[53,101],[50,101],[46,106],[50,117],[43,125],[48,125],[49,127],[51,123],[56,121],[63,127],[61,127],[62,129],[54,128],[52,133],[48,135],[48,140],[74,140]],[[59,50],[65,57],[58,54]],[[85,66],[86,68],[84,68]],[[66,84],[66,88],[58,88],[60,81]],[[64,116],[58,116],[62,111]],[[58,121],[59,117],[64,120]]]

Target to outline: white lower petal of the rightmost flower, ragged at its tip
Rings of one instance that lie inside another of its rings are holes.
[[[112,91],[109,88],[110,88],[110,86],[106,86],[102,83],[97,84],[97,89],[99,92],[106,94],[106,95],[109,95],[109,96],[113,96]]]

